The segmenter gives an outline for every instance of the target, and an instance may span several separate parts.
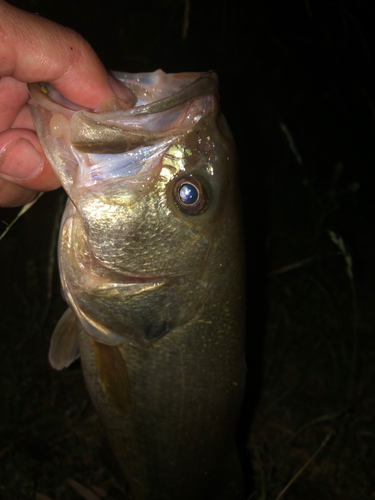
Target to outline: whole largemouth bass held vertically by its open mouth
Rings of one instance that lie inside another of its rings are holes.
[[[113,72],[97,110],[29,85],[68,194],[57,370],[81,358],[132,500],[239,500],[244,242],[234,140],[206,73]]]

